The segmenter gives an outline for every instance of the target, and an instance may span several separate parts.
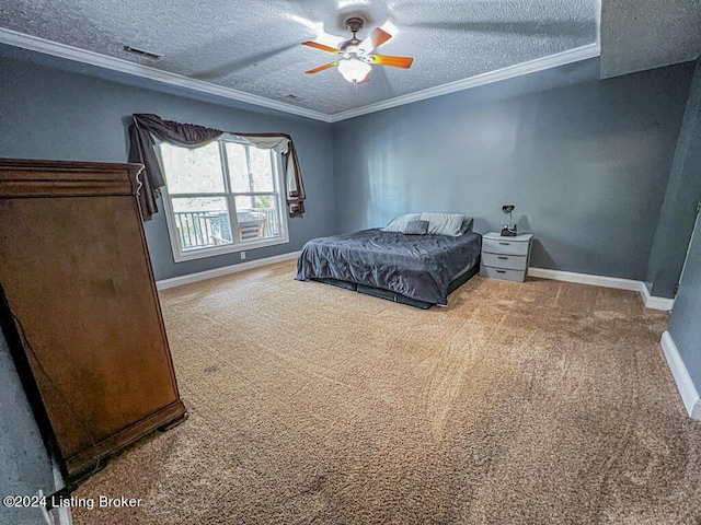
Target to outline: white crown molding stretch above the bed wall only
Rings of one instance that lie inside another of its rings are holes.
[[[360,115],[367,115],[369,113],[381,112],[382,109],[411,104],[412,102],[424,101],[426,98],[433,98],[435,96],[447,95],[448,93],[476,88],[478,85],[491,84],[492,82],[543,71],[545,69],[556,68],[558,66],[578,62],[588,58],[598,57],[600,54],[601,48],[598,43],[589,44],[588,46],[577,47],[575,49],[537,58],[535,60],[529,60],[528,62],[517,63],[515,66],[478,74],[468,79],[456,80],[455,82],[449,82],[447,84],[428,88],[427,90],[410,93],[409,95],[402,95],[388,101],[378,102],[377,104],[369,104],[348,112],[336,113],[331,116],[331,121],[337,122],[340,120],[359,117]]]

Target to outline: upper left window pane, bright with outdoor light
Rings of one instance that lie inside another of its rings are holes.
[[[168,190],[171,194],[223,191],[223,175],[217,142],[192,150],[171,144],[160,144],[160,148]]]

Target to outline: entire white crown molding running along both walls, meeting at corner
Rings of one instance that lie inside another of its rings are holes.
[[[446,95],[449,93],[455,93],[457,91],[490,84],[492,82],[513,79],[522,74],[556,68],[559,66],[598,57],[601,51],[597,36],[596,44],[577,47],[575,49],[550,55],[548,57],[529,60],[528,62],[509,66],[496,71],[490,71],[486,73],[478,74],[475,77],[470,77],[468,79],[437,85],[435,88],[429,88],[416,93],[398,96],[395,98],[390,98],[377,104],[369,104],[356,109],[341,112],[334,115],[326,115],[321,112],[314,112],[312,109],[292,106],[290,104],[273,101],[271,98],[265,98],[262,96],[252,95],[250,93],[244,93],[242,91],[232,90],[231,88],[223,88],[220,85],[211,84],[209,82],[203,82],[200,80],[183,77],[181,74],[169,73],[166,71],[161,71],[159,69],[142,66],[140,63],[129,62],[120,58],[108,57],[99,52],[80,49],[73,46],[68,46],[66,44],[59,44],[57,42],[47,40],[2,27],[0,27],[0,43],[30,49],[32,51],[37,51],[45,55],[51,55],[54,57],[66,58],[68,60],[96,66],[99,68],[105,68],[122,73],[154,80],[157,82],[163,82],[166,84],[185,88],[200,93],[208,93],[211,95],[221,96],[223,98],[244,102],[269,109],[276,109],[284,113],[298,115],[300,117],[321,120],[323,122],[337,122],[341,120],[346,120],[348,118],[358,117],[360,115],[381,112],[382,109],[389,109],[391,107],[402,106],[404,104],[411,104],[413,102],[424,101],[426,98],[433,98],[435,96]]]

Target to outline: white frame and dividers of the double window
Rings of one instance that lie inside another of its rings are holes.
[[[285,176],[283,155],[275,150],[267,150],[271,154],[271,168],[273,170],[273,191],[233,191],[231,188],[231,179],[229,174],[229,159],[226,152],[226,143],[233,142],[245,148],[255,148],[255,145],[240,140],[233,137],[227,137],[226,135],[219,137],[217,142],[219,148],[219,162],[221,164],[221,174],[223,178],[223,191],[209,192],[209,194],[171,194],[168,187],[168,172],[165,171],[163,158],[161,156],[161,144],[163,142],[157,142],[156,151],[163,170],[163,177],[165,185],[161,190],[161,202],[163,203],[163,211],[165,212],[165,223],[168,225],[168,234],[171,243],[171,250],[173,253],[173,260],[175,262],[182,262],[186,260],[196,260],[207,257],[216,257],[218,255],[234,254],[239,252],[245,252],[249,249],[262,248],[265,246],[275,246],[279,244],[289,243],[289,229],[288,229],[288,215],[287,215],[287,196],[285,194]],[[169,144],[170,145],[170,144]],[[175,148],[183,148],[181,145],[172,144]],[[260,148],[265,150],[264,148]],[[246,155],[246,162],[248,155]],[[250,167],[250,164],[249,164]],[[273,195],[278,220],[278,235],[274,237],[264,237],[256,241],[241,242],[234,232],[238,232],[239,221],[237,218],[235,198],[237,197],[250,197],[250,196],[264,196]],[[220,197],[225,198],[228,208],[229,224],[231,229],[231,243],[221,244],[217,246],[203,246],[199,248],[184,249],[180,243],[180,236],[177,234],[177,226],[175,225],[175,214],[173,211],[172,199],[176,198],[211,198]]]

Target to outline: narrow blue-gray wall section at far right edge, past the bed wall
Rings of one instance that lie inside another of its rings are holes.
[[[674,298],[701,200],[701,59],[697,61],[679,141],[671,164],[653,249],[647,287],[653,295]]]

